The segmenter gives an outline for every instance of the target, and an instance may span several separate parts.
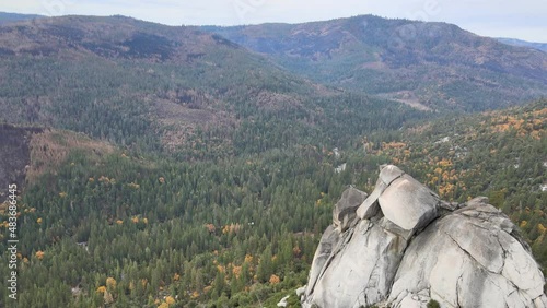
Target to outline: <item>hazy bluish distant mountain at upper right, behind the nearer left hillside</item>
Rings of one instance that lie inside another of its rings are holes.
[[[202,29],[314,81],[431,109],[498,108],[547,93],[547,55],[445,23],[365,15]]]

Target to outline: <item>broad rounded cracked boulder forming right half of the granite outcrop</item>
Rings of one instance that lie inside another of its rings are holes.
[[[544,277],[529,250],[492,205],[466,206],[412,239],[389,301],[428,294],[442,307],[545,307]]]

